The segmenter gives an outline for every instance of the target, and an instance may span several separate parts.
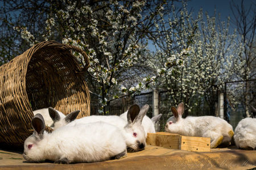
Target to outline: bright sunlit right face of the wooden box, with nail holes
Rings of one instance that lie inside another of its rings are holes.
[[[180,136],[180,150],[210,152],[210,138]]]

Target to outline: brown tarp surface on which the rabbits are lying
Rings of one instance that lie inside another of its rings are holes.
[[[251,169],[256,167],[256,151],[216,148],[210,152],[171,150],[146,146],[120,160],[97,163],[27,163],[21,152],[0,150],[0,169]]]

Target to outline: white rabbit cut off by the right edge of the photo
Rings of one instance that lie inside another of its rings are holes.
[[[238,148],[256,150],[256,118],[245,118],[238,123],[234,142]]]

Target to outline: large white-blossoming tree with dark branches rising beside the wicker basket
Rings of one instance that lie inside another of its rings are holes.
[[[134,93],[146,86],[147,82],[141,82],[137,88],[122,88],[127,76],[139,77],[147,71],[142,64],[148,53],[145,38],[154,31],[154,22],[160,18],[160,11],[163,13],[163,7],[167,11],[170,3],[162,0],[51,1],[48,6],[52,10],[47,15],[45,34],[38,38],[26,27],[15,29],[31,45],[42,37],[44,40],[58,37],[65,44],[84,49],[90,59],[87,81],[92,94],[100,98],[102,111],[107,113],[105,106],[111,99],[118,98],[121,90]],[[77,58],[83,66],[82,56]]]

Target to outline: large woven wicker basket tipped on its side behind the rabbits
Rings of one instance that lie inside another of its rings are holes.
[[[31,135],[32,110],[54,107],[64,114],[90,114],[88,86],[72,51],[84,51],[54,41],[34,45],[0,67],[0,143],[21,146]]]

